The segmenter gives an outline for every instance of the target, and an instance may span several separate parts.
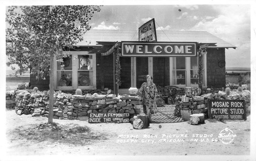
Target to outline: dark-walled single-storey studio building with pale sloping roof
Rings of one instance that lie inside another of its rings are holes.
[[[158,42],[197,42],[209,45],[203,56],[203,88],[225,87],[225,49],[236,46],[204,31],[157,31]],[[120,57],[121,86],[116,85],[116,58],[121,41],[138,41],[135,30],[90,30],[63,64],[54,64],[54,89],[75,90],[110,88],[127,93],[140,88],[151,74],[158,86],[197,87],[198,57]],[[31,86],[49,89],[49,79],[30,78]]]

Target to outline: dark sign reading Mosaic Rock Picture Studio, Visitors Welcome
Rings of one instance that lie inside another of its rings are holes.
[[[246,120],[244,100],[208,100],[209,119]]]

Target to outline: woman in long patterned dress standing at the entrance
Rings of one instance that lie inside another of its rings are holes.
[[[143,112],[151,121],[152,114],[157,113],[157,87],[153,83],[153,77],[151,75],[146,75],[146,82],[141,85],[138,94],[142,99]]]

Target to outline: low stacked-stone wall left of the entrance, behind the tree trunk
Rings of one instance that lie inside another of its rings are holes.
[[[29,93],[26,90],[16,92],[15,111],[18,115],[49,115],[49,92]],[[86,120],[90,113],[130,113],[140,114],[138,96],[114,94],[72,95],[61,91],[54,94],[54,119]]]

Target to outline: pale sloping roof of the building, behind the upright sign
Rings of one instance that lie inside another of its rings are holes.
[[[116,42],[138,41],[137,30],[90,30],[78,46],[113,46]],[[157,31],[157,41],[216,43],[212,48],[236,48],[236,46],[206,31]],[[98,43],[99,42],[99,43]]]

